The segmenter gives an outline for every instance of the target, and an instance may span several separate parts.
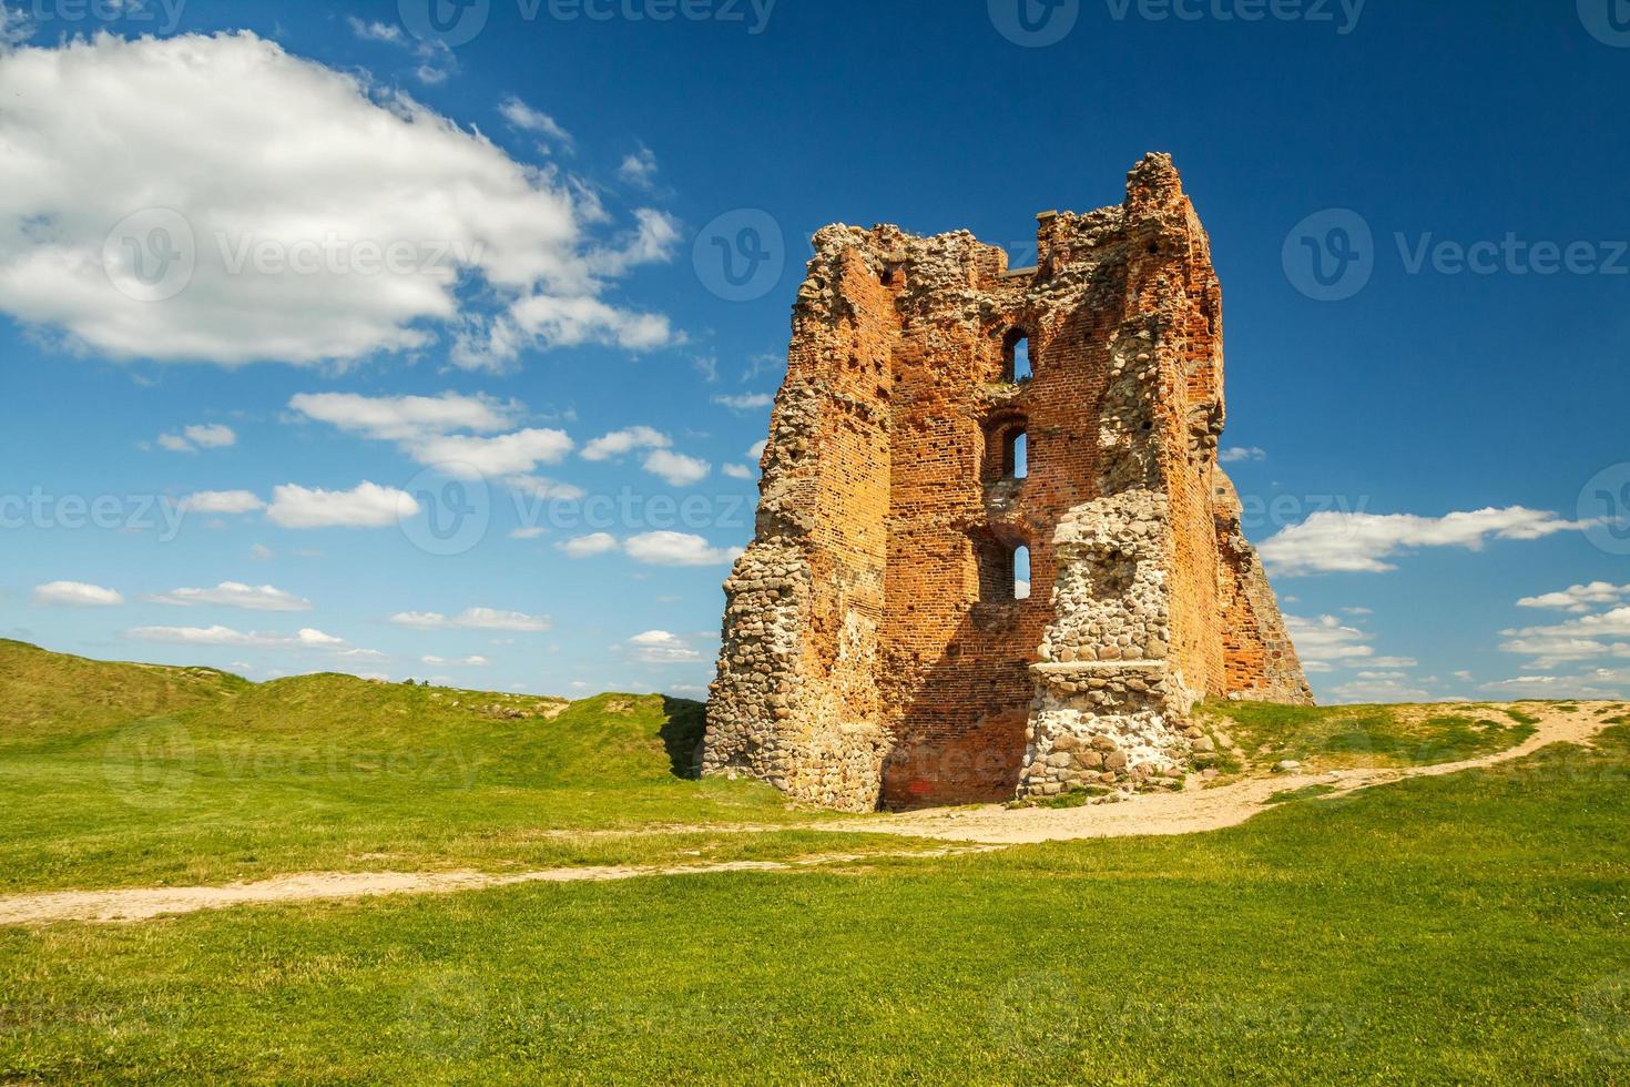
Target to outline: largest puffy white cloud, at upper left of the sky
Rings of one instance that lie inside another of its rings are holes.
[[[455,363],[497,368],[680,339],[605,300],[629,264],[595,262],[592,196],[253,33],[16,49],[0,54],[0,310],[73,349],[319,363],[452,332]],[[163,269],[163,295],[184,288],[155,300]]]

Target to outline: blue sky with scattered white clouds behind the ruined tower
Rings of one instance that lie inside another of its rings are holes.
[[[0,634],[701,694],[808,235],[1164,150],[1319,694],[1630,696],[1630,5],[1024,2],[8,0]]]

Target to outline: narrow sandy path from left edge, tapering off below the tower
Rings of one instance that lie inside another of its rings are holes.
[[[368,898],[373,895],[447,895],[517,883],[601,883],[647,875],[716,875],[719,872],[799,872],[828,865],[864,864],[879,857],[949,857],[985,852],[993,846],[869,854],[820,854],[794,860],[727,860],[691,865],[615,865],[544,869],[540,872],[303,872],[227,887],[137,887],[108,891],[47,891],[0,898],[0,926],[54,921],[150,921],[199,909],[225,909],[293,901]]]

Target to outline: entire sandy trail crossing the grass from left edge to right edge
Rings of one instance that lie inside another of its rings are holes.
[[[791,860],[727,860],[689,865],[613,865],[544,869],[538,872],[305,872],[254,883],[227,887],[139,887],[104,891],[46,891],[0,896],[0,926],[51,924],[59,921],[129,922],[152,918],[223,909],[228,906],[272,904],[292,901],[334,901],[373,895],[447,895],[453,891],[513,887],[518,883],[577,883],[632,880],[652,875],[714,875],[720,872],[808,872],[820,867],[864,864],[883,857],[950,857],[989,852],[1007,846],[1042,841],[1076,841],[1084,838],[1128,838],[1138,834],[1195,834],[1224,826],[1237,826],[1267,810],[1278,792],[1327,786],[1327,795],[1346,795],[1359,789],[1384,786],[1410,777],[1438,777],[1467,769],[1498,766],[1539,751],[1552,743],[1589,745],[1607,727],[1614,702],[1581,702],[1578,712],[1565,714],[1550,706],[1529,707],[1539,724],[1532,737],[1514,748],[1460,763],[1403,769],[1341,769],[1327,772],[1293,772],[1271,777],[1247,777],[1214,789],[1190,787],[1174,794],[1151,794],[1123,803],[1082,808],[978,808],[910,812],[859,820],[792,823],[784,826],[663,826],[650,833],[716,833],[751,834],[776,830],[820,830],[831,833],[898,834],[936,838],[954,843],[934,851],[895,851],[872,854],[818,854]],[[603,831],[629,834],[631,831]],[[641,833],[641,831],[632,831]]]

